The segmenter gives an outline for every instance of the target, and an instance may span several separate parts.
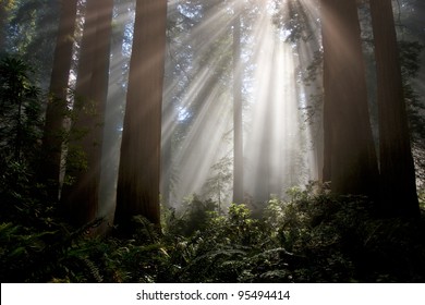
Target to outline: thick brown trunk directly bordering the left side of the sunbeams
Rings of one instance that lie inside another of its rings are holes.
[[[160,223],[166,24],[166,0],[137,0],[117,190],[116,222],[124,231],[136,215]]]

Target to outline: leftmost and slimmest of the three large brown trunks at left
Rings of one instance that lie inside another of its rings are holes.
[[[61,1],[61,16],[54,49],[53,69],[50,77],[50,97],[46,109],[42,164],[44,181],[56,199],[59,196],[59,175],[63,143],[63,120],[66,112],[68,82],[72,64],[72,50],[76,23],[77,0]]]

